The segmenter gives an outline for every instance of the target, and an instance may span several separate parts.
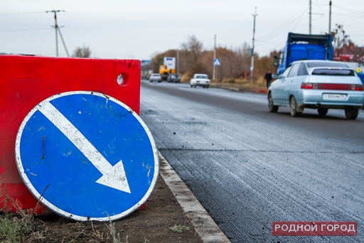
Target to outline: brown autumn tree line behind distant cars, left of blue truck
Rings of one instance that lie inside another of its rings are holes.
[[[177,54],[178,52],[178,54]],[[211,79],[213,77],[213,50],[205,50],[203,43],[198,41],[196,36],[188,36],[185,43],[181,44],[181,49],[166,50],[151,58],[149,68],[153,72],[159,72],[159,65],[163,65],[164,57],[178,58],[178,72],[182,81],[188,81],[193,73],[205,73]],[[273,56],[277,52],[272,52],[269,56],[259,57],[255,55],[255,65],[253,70],[253,80],[262,80],[267,70],[275,71]],[[215,81],[224,80],[250,80],[251,60],[250,46],[244,43],[241,48],[229,49],[223,46],[216,48],[216,58],[221,60],[221,65],[215,68]],[[177,65],[177,64],[176,64]]]

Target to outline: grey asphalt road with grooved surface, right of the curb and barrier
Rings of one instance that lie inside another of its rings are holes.
[[[265,95],[141,82],[141,118],[231,242],[364,242],[364,110],[268,112]],[[356,237],[274,237],[273,221],[355,221]]]

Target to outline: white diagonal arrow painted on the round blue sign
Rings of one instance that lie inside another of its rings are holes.
[[[53,104],[46,102],[39,109],[75,146],[91,161],[91,163],[102,173],[97,183],[110,188],[131,193],[127,175],[124,171],[122,161],[112,166],[102,154],[88,141],[73,124],[63,116]]]

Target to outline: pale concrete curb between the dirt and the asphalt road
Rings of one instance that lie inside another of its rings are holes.
[[[160,169],[159,173],[164,179],[168,188],[171,189],[173,195],[176,197],[179,205],[187,217],[190,218],[191,223],[196,229],[197,234],[205,243],[227,243],[230,242],[228,237],[216,225],[213,219],[206,212],[203,205],[198,202],[197,198],[183,180],[173,170],[166,158],[159,152]]]

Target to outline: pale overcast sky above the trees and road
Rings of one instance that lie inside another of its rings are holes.
[[[328,32],[329,0],[312,1],[312,33]],[[364,46],[364,1],[333,0],[331,29],[342,24]],[[51,10],[57,14],[68,53],[88,46],[92,57],[149,60],[181,48],[194,35],[213,50],[252,45],[268,55],[283,47],[287,34],[309,33],[309,0],[0,0],[0,53],[55,56]],[[58,35],[59,55],[67,56]]]

